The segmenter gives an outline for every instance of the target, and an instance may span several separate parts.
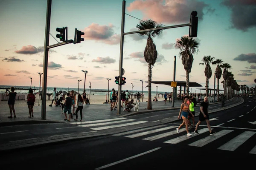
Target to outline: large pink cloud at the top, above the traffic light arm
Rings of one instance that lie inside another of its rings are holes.
[[[159,23],[188,23],[191,11],[197,11],[199,20],[202,20],[203,10],[207,7],[208,4],[198,0],[135,0],[127,9],[129,12],[142,11],[144,18]]]

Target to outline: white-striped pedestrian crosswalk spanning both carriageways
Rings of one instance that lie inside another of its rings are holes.
[[[70,122],[70,124],[77,125],[79,127],[89,127],[91,130],[106,130],[116,127],[140,125],[146,122],[147,121],[137,121],[136,119],[115,118],[86,122]],[[256,134],[256,130],[244,130],[243,132],[241,132],[240,129],[239,133],[234,133],[236,131],[234,129],[221,129],[218,127],[219,131],[216,130],[217,133],[210,136],[208,128],[201,127],[201,129],[198,130],[199,134],[192,133],[192,136],[186,136],[185,128],[181,128],[179,134],[177,134],[176,128],[177,125],[172,124],[157,125],[125,131],[122,133],[116,133],[112,136],[122,136],[131,139],[139,138],[146,141],[158,141],[166,144],[186,144],[193,147],[204,147],[212,142],[215,142],[216,145],[217,141],[216,149],[228,151],[235,151],[245,142],[249,141],[248,143],[253,144],[253,146],[250,146],[250,151],[248,153],[256,154],[256,142],[250,142],[253,139],[255,140],[256,136],[254,135]],[[227,139],[221,140],[221,138],[225,138],[225,136],[227,135],[229,141],[227,141]],[[222,141],[223,143],[219,144],[218,140]]]

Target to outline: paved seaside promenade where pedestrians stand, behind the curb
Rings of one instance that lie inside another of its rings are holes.
[[[233,98],[228,101],[235,100],[237,98]],[[218,104],[220,102],[209,103],[209,105]],[[100,119],[113,119],[116,117],[125,117],[131,116],[135,114],[148,113],[152,111],[168,111],[172,109],[180,109],[181,100],[175,101],[175,105],[172,108],[172,102],[167,100],[166,104],[162,101],[152,102],[152,110],[147,109],[148,102],[140,102],[140,107],[138,112],[134,112],[134,109],[131,109],[131,112],[123,111],[121,108],[121,114],[117,115],[116,110],[110,110],[110,104],[91,104],[84,105],[83,108],[83,120],[91,121],[91,120],[100,120]],[[197,105],[196,107],[198,107]],[[228,105],[227,105],[228,106]],[[220,108],[223,110],[224,108]],[[24,125],[24,124],[37,124],[37,123],[56,123],[56,122],[65,122],[64,114],[61,114],[61,107],[55,106],[47,106],[46,107],[46,120],[41,120],[41,106],[35,105],[34,108],[34,117],[28,118],[28,108],[27,107],[15,107],[16,118],[8,118],[10,115],[9,108],[1,108],[0,113],[0,126],[10,126],[10,125]],[[75,115],[73,115],[73,119],[75,119]],[[80,113],[78,113],[78,117],[80,119]],[[71,119],[71,122],[73,122]]]

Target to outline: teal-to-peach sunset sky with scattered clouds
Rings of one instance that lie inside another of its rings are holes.
[[[191,82],[205,88],[204,56],[222,59],[239,85],[252,87],[256,79],[256,0],[126,0],[125,33],[136,31],[140,20],[154,20],[164,26],[189,23],[190,13],[198,12],[198,54],[194,54]],[[39,86],[44,63],[47,0],[0,0],[0,85]],[[49,45],[60,42],[56,28],[68,27],[74,40],[75,28],[84,32],[84,41],[51,48],[48,56],[47,87],[118,88],[122,0],[52,0]],[[152,81],[172,81],[174,56],[176,80],[186,81],[179,50],[174,43],[189,34],[189,27],[165,29],[152,37],[157,61],[152,66]],[[56,39],[56,40],[55,40]],[[58,41],[57,41],[58,40]],[[148,64],[143,52],[147,37],[124,36],[122,68],[126,84],[122,90],[143,91],[148,81]],[[211,65],[212,73],[216,65]],[[221,77],[220,82],[223,80]],[[132,84],[131,84],[132,83]],[[217,81],[216,81],[217,85]],[[42,86],[42,84],[41,84]],[[152,84],[152,91],[172,91],[171,86]],[[214,86],[214,74],[209,88]],[[192,88],[195,92],[196,88]],[[217,88],[217,86],[216,86]],[[220,83],[220,89],[223,89]],[[179,88],[178,88],[179,90]],[[203,91],[202,91],[203,93]]]

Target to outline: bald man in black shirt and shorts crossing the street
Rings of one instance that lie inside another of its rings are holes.
[[[208,114],[208,106],[209,106],[208,97],[205,96],[204,97],[204,102],[200,103],[199,120],[198,120],[198,123],[196,124],[195,130],[194,130],[194,132],[196,134],[199,134],[198,133],[198,127],[201,124],[201,122],[204,121],[204,120],[207,123],[207,127],[209,129],[210,135],[214,135],[216,133],[216,132],[213,132],[212,129],[211,129],[211,125],[210,125],[210,121],[209,121],[209,114]]]

